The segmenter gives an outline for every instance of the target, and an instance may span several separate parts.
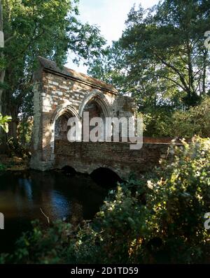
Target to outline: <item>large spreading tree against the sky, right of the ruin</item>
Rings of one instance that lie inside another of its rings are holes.
[[[207,0],[165,0],[144,10],[135,6],[128,14],[126,28],[118,41],[118,61],[127,88],[139,105],[170,105],[189,108],[209,92],[209,52],[204,33],[210,26]],[[116,48],[111,48],[112,56]],[[106,71],[116,70],[108,58]],[[123,62],[122,62],[123,61]],[[111,66],[110,66],[111,64]],[[99,62],[90,73],[99,73]],[[119,71],[119,70],[118,70]],[[113,82],[115,79],[113,78]],[[115,84],[114,84],[115,85]],[[123,87],[123,85],[121,85]]]

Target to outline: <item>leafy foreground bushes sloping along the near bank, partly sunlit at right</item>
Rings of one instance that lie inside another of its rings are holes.
[[[78,228],[37,223],[18,241],[12,263],[209,263],[210,140],[172,145],[169,161],[109,193]]]

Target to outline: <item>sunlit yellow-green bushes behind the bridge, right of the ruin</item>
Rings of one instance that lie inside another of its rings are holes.
[[[144,119],[144,136],[192,138],[210,137],[210,98],[189,110],[147,108],[139,116]]]

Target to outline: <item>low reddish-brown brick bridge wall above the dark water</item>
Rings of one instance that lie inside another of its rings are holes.
[[[91,174],[97,168],[109,168],[126,178],[130,173],[141,175],[158,166],[169,145],[145,143],[142,149],[131,150],[129,142],[72,142],[57,140],[55,166],[71,166],[80,173]]]

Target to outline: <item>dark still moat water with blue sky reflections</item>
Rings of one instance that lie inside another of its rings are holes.
[[[0,230],[0,253],[13,249],[22,231],[31,228],[31,220],[46,223],[40,208],[50,221],[67,219],[78,224],[94,217],[106,194],[107,189],[86,175],[69,177],[55,171],[33,170],[0,175],[0,212],[5,217],[5,230]]]

